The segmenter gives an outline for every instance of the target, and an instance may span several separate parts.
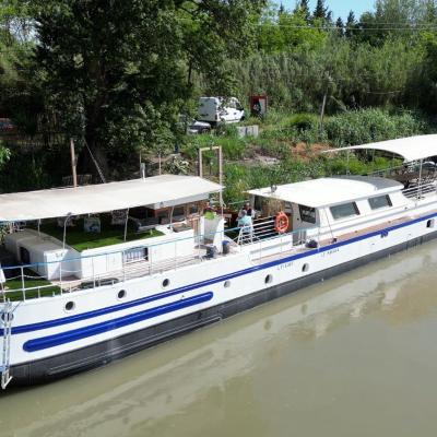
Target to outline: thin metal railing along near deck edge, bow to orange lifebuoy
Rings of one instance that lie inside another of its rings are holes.
[[[95,270],[95,260],[101,257],[108,257],[111,255],[119,253],[123,256],[123,250],[106,251],[97,255],[87,255],[83,257],[72,257],[60,261],[49,261],[42,263],[29,263],[24,265],[15,267],[3,267],[2,270],[5,273],[7,281],[2,284],[0,290],[0,303],[5,303],[8,299],[11,300],[27,300],[31,298],[50,297],[56,295],[62,295],[64,293],[72,293],[79,290],[97,288],[99,286],[115,285],[137,277],[146,277],[156,273],[165,271],[176,270],[190,264],[203,262],[211,257],[208,255],[208,246],[203,244],[205,240],[213,240],[214,236],[221,234],[223,240],[232,243],[231,251],[241,251],[244,246],[248,243],[252,243],[253,246],[258,243],[265,243],[272,240],[281,241],[285,238],[292,239],[293,246],[298,246],[305,243],[307,233],[306,229],[285,233],[277,235],[274,231],[273,217],[262,218],[253,224],[253,233],[245,233],[245,228],[229,228],[218,231],[205,235],[194,235],[185,238],[174,239],[172,241],[156,243],[153,245],[144,245],[147,247],[149,253],[152,248],[157,246],[169,247],[168,253],[172,248],[168,245],[173,245],[173,256],[169,255],[167,259],[161,261],[154,261],[153,257],[142,259],[135,262],[126,263],[123,262],[121,268],[115,268],[107,270],[104,273],[98,273]],[[237,234],[237,238],[232,238],[229,235]],[[249,241],[250,239],[250,241]],[[184,240],[191,240],[193,245],[193,251],[189,255],[178,255],[178,244]],[[235,243],[238,241],[239,243]],[[282,246],[282,243],[280,244]],[[277,253],[282,252],[282,247],[277,249]],[[71,269],[74,265],[74,261],[91,259],[92,274],[84,277],[80,277],[81,271]],[[38,275],[35,271],[40,271],[44,267],[52,265],[59,268],[59,275],[56,279],[47,281],[44,276]],[[74,276],[76,275],[76,276]],[[42,281],[42,284],[37,284]],[[14,282],[13,287],[9,287],[9,284]]]

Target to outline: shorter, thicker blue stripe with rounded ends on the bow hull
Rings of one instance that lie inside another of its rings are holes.
[[[91,324],[88,327],[74,329],[72,331],[61,332],[59,334],[42,336],[39,339],[29,340],[24,343],[23,349],[26,352],[37,352],[45,349],[59,346],[73,341],[83,340],[88,336],[102,334],[115,329],[127,327],[129,324],[138,323],[143,320],[153,319],[168,312],[174,312],[182,308],[189,308],[198,304],[211,300],[213,293],[203,293],[198,296],[188,297],[172,304],[161,305],[155,308],[150,308],[144,311],[135,312],[133,315],[120,317],[115,320],[104,321],[102,323]]]

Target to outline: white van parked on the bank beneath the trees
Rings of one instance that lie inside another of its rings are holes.
[[[232,123],[245,118],[245,109],[236,97],[200,97],[199,120],[212,125]]]

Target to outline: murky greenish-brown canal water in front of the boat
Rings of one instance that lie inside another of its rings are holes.
[[[0,394],[0,436],[437,434],[437,244]]]

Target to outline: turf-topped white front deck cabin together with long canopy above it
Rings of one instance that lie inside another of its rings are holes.
[[[193,256],[205,232],[223,231],[221,216],[206,221],[203,214],[210,196],[221,190],[199,177],[162,175],[1,194],[0,222],[10,231],[4,248],[49,281],[184,260]]]

